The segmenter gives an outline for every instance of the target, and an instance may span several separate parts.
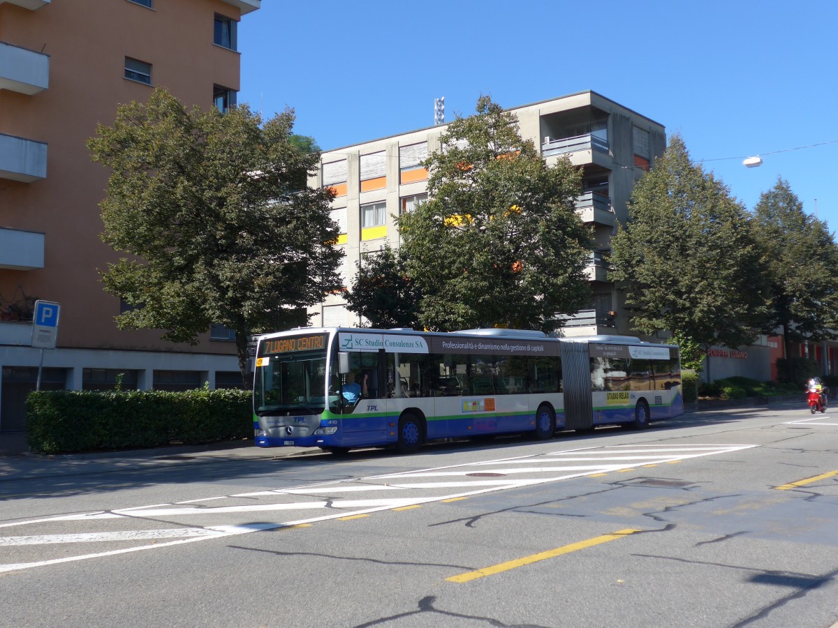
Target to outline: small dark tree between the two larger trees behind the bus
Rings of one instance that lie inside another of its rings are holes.
[[[349,311],[365,317],[370,327],[414,327],[421,294],[407,275],[404,250],[390,245],[367,254],[345,295]]]

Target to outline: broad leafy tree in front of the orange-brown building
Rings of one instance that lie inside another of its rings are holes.
[[[120,328],[196,344],[221,323],[244,379],[249,333],[302,324],[339,286],[331,193],[301,188],[319,153],[293,139],[293,121],[290,110],[264,124],[247,106],[187,111],[158,89],[97,127],[87,146],[111,168],[101,239],[129,255],[100,271],[134,306]]]

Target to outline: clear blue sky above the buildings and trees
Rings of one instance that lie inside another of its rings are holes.
[[[748,209],[781,176],[835,230],[836,24],[834,0],[263,0],[239,28],[239,101],[291,107],[328,150],[432,126],[440,96],[451,121],[481,94],[594,90],[679,132]]]

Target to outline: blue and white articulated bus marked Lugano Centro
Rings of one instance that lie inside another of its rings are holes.
[[[678,347],[636,337],[308,327],[259,337],[255,366],[261,447],[408,453],[439,439],[642,430],[684,411]]]

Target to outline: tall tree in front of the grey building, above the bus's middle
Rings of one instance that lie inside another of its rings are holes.
[[[432,329],[557,327],[589,301],[590,233],[574,200],[580,173],[548,167],[515,116],[488,96],[442,134],[424,165],[427,203],[398,217],[408,275]]]

